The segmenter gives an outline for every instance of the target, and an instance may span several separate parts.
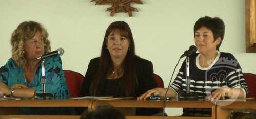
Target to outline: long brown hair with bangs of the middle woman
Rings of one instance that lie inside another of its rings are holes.
[[[135,71],[135,58],[138,57],[135,55],[135,45],[132,37],[131,29],[129,25],[124,21],[115,21],[112,22],[106,30],[104,40],[102,43],[102,51],[100,57],[99,68],[95,74],[92,84],[90,86],[90,94],[92,96],[99,95],[99,85],[106,79],[109,69],[113,69],[113,63],[110,57],[110,53],[107,49],[107,37],[114,30],[120,30],[122,36],[126,37],[130,41],[130,48],[127,51],[126,57],[122,63],[124,69],[123,75],[123,94],[124,96],[133,96],[136,89],[136,71]],[[104,85],[104,84],[103,84]]]

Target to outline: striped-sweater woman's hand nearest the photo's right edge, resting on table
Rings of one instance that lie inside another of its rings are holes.
[[[225,96],[228,95],[230,91],[229,87],[220,87],[213,91],[209,97],[207,97],[209,100],[219,100],[219,99],[225,99]]]

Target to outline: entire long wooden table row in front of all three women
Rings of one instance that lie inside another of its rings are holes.
[[[136,99],[120,99],[120,100],[0,100],[0,119],[2,118],[48,118],[48,119],[62,119],[71,118],[78,119],[77,115],[17,115],[15,111],[19,107],[88,107],[93,110],[97,105],[108,103],[114,107],[149,107],[149,108],[211,108],[211,117],[182,117],[173,116],[165,118],[175,119],[227,119],[231,111],[238,109],[254,109],[256,110],[255,99],[229,99],[221,100],[214,103],[210,101],[178,101],[175,99],[169,101],[150,101],[150,100],[136,100]],[[10,112],[11,110],[11,112]],[[46,117],[47,116],[47,117]],[[161,116],[127,116],[127,119],[139,118],[162,118]]]

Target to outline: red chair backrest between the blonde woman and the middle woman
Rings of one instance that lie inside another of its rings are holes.
[[[84,76],[72,70],[63,70],[70,97],[75,98],[79,96],[84,81]]]

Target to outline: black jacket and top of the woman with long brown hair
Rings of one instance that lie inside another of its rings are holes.
[[[157,82],[153,77],[153,64],[145,59],[137,57],[135,60],[136,76],[137,76],[137,87],[133,97],[139,97],[147,90],[157,87]],[[85,74],[84,82],[82,85],[80,97],[90,96],[89,89],[92,83],[94,75],[97,73],[99,68],[100,58],[91,59],[87,72]],[[101,79],[104,81],[104,85],[99,85],[98,90],[101,92],[101,96],[114,96],[123,97],[123,92],[120,92],[120,88],[123,88],[122,77],[120,79],[109,80]],[[137,108],[136,115],[152,115],[158,113],[157,108]]]

